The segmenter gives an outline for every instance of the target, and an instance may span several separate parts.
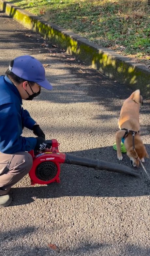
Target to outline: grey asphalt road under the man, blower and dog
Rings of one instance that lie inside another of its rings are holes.
[[[61,152],[119,162],[112,145],[131,88],[44,42],[1,12],[0,75],[19,55],[33,55],[48,65],[53,91],[42,89],[32,102],[23,102],[24,109],[47,139],[59,141]],[[141,131],[150,154],[149,112],[145,100]],[[23,135],[32,136],[32,131]],[[144,166],[150,173],[149,161]],[[129,166],[125,154],[121,164]],[[137,172],[138,179],[65,164],[61,183],[31,186],[29,176],[24,177],[11,189],[12,205],[0,209],[0,255],[149,256],[150,181],[141,167]]]

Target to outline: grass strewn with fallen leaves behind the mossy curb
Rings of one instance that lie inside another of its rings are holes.
[[[150,65],[149,0],[9,0],[93,43]]]

